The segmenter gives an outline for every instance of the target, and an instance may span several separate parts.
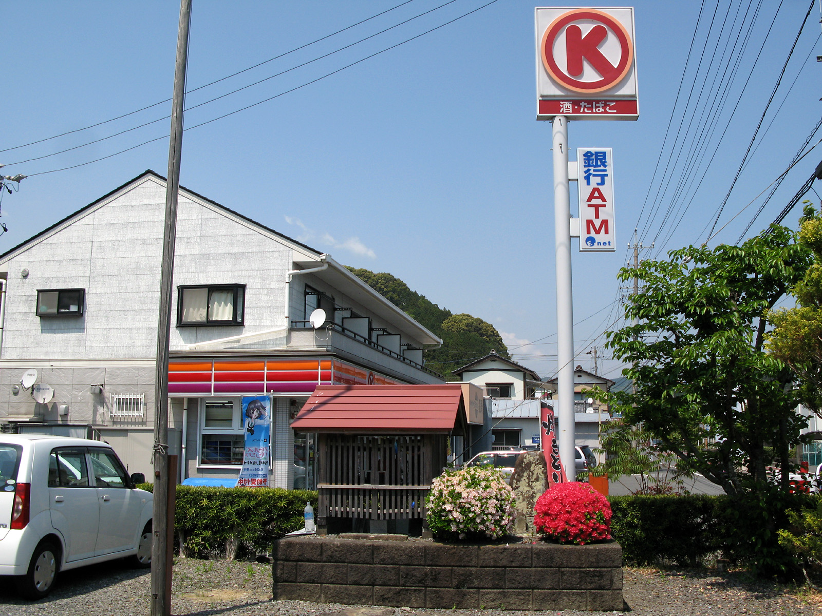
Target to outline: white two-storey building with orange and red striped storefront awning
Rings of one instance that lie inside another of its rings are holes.
[[[90,434],[150,475],[164,205],[164,177],[146,171],[0,255],[4,430]],[[423,365],[441,340],[330,255],[182,187],[173,287],[181,479],[238,474],[242,396],[273,398],[272,485],[312,487],[313,435],[289,422],[316,384],[442,382]]]

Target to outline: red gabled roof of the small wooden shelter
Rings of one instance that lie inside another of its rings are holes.
[[[291,423],[300,432],[464,433],[461,385],[317,385]]]

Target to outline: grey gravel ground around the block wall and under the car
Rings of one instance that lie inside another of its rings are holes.
[[[0,578],[0,616],[130,616],[149,613],[150,576],[145,569],[115,561],[62,573],[46,599],[17,598]],[[178,616],[491,616],[496,610],[395,609],[271,601],[271,567],[266,564],[181,559],[174,565],[172,612]],[[750,580],[744,573],[706,570],[625,570],[625,598],[631,616],[737,616],[779,614],[822,616],[822,595]],[[626,610],[627,611],[627,610]],[[581,616],[619,612],[506,612],[509,616]]]

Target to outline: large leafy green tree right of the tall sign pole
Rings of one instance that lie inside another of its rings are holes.
[[[789,448],[805,420],[797,414],[792,371],[765,352],[764,315],[810,265],[787,228],[742,246],[689,246],[669,260],[624,268],[640,278],[626,318],[607,346],[631,367],[636,393],[608,394],[626,421],[642,423],[679,458],[727,494],[767,490],[765,467],[777,452],[787,490]]]

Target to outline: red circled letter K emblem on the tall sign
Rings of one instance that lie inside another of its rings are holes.
[[[591,27],[583,34],[580,25]],[[609,55],[616,64],[600,49],[605,46],[614,48]],[[625,27],[612,16],[593,8],[579,8],[557,17],[547,27],[540,55],[556,83],[574,92],[594,94],[610,90],[628,74],[634,62],[634,45]],[[585,62],[597,74],[593,79],[584,78],[586,72],[591,72],[585,71]]]

